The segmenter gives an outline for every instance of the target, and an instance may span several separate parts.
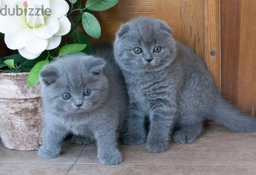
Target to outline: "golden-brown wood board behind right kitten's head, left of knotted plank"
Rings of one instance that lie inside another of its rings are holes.
[[[202,0],[162,0],[156,5],[157,18],[172,28],[174,38],[203,57]]]

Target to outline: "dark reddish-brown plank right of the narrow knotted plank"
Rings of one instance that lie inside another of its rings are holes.
[[[221,14],[221,91],[237,104],[240,0],[220,1]]]

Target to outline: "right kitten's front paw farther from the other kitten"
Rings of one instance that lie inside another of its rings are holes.
[[[148,152],[152,152],[152,153],[160,153],[160,152],[164,152],[168,147],[168,141],[147,141],[147,149]]]

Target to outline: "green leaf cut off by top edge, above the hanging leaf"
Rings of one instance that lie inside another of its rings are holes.
[[[107,10],[118,3],[119,0],[87,0],[85,7],[92,11]]]

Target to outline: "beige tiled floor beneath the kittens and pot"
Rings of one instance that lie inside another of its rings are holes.
[[[194,143],[171,143],[164,153],[148,153],[145,145],[121,146],[121,152],[121,164],[102,165],[95,144],[66,141],[60,157],[43,159],[0,143],[0,174],[256,174],[256,134],[221,126],[207,127]]]

